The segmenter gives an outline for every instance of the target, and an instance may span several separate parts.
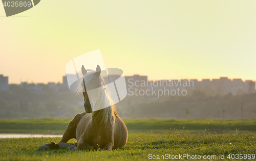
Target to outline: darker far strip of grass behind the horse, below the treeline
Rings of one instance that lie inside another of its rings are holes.
[[[0,133],[40,133],[62,135],[72,119],[0,119]],[[124,119],[129,133],[139,132],[256,132],[256,120],[225,119]]]

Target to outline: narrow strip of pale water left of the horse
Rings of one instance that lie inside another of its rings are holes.
[[[28,133],[0,133],[0,139],[3,138],[54,138],[62,137],[62,135],[41,135],[41,134],[28,134]]]

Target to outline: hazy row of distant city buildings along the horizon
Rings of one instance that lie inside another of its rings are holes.
[[[106,82],[113,79],[116,80],[120,75],[112,75],[109,77],[103,77]],[[148,80],[146,75],[132,75],[125,76],[126,89],[128,95],[148,95],[152,92],[152,96],[155,94],[157,98],[166,95],[186,95],[188,92],[194,90],[204,91],[206,94],[215,95],[227,95],[231,93],[232,95],[241,95],[256,92],[255,81],[245,80],[241,78],[230,79],[228,77],[220,77],[218,79],[159,79],[159,80]],[[48,82],[47,84],[42,83],[28,83],[22,82],[20,87],[24,87],[27,90],[35,93],[44,93],[45,89],[58,92],[59,94],[70,91],[67,76],[62,76],[61,83]],[[3,76],[0,74],[0,91],[9,90],[8,76]],[[158,91],[156,94],[155,91]],[[74,91],[73,91],[74,92]],[[139,92],[139,93],[137,93]]]

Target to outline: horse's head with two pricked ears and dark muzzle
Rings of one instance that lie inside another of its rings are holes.
[[[89,81],[84,81],[84,79],[86,78],[86,74],[88,73],[87,70],[84,68],[84,66],[82,65],[82,75],[83,75],[83,87],[84,87],[84,91],[83,91],[83,98],[84,98],[84,109],[86,110],[87,113],[92,113],[93,109],[91,106],[91,103],[94,105],[94,103],[96,102],[97,99],[97,95],[98,95],[98,90],[99,87],[101,86],[101,81],[100,81],[100,67],[99,65],[96,68],[96,72],[92,73],[93,75],[90,75],[91,79]],[[91,73],[88,73],[91,74]],[[96,89],[96,90],[93,90]],[[91,102],[89,100],[89,96],[87,91],[90,91],[90,98],[91,98]]]

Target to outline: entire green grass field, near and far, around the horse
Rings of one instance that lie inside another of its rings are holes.
[[[0,120],[0,129],[2,133],[33,131],[61,134],[69,121],[70,119],[5,119]],[[129,119],[124,122],[129,130],[127,144],[111,152],[37,150],[39,146],[59,142],[61,138],[0,139],[0,160],[148,160],[153,155],[161,157],[166,154],[170,158],[179,154],[194,157],[200,155],[201,158],[209,155],[209,160],[216,160],[219,159],[219,154],[225,155],[225,159],[229,154],[230,157],[231,154],[256,154],[256,120]],[[69,142],[75,141],[72,139]],[[152,155],[148,156],[149,154]]]

